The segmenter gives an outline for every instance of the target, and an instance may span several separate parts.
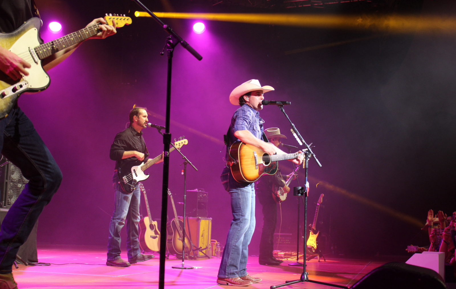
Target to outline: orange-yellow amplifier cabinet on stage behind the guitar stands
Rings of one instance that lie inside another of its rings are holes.
[[[182,220],[182,217],[179,219]],[[197,258],[206,257],[206,255],[211,257],[212,218],[187,217],[185,230],[193,245],[202,249],[201,251],[193,251],[193,255]],[[196,248],[193,247],[192,250]]]

